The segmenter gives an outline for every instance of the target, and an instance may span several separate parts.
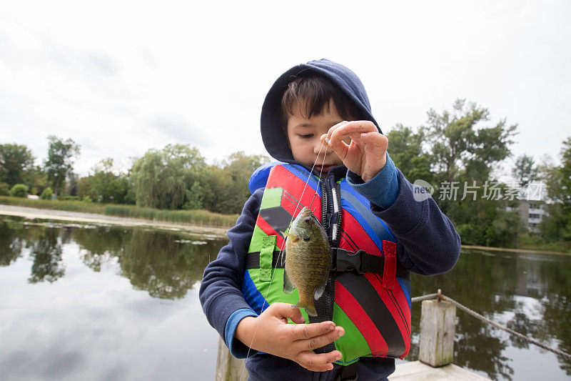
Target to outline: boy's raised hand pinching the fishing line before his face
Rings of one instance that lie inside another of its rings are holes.
[[[348,138],[349,144],[346,143]],[[321,142],[325,139],[345,167],[358,174],[364,182],[373,179],[387,162],[388,139],[368,120],[340,122],[320,139]]]

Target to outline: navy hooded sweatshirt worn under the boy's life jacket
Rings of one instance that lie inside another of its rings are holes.
[[[381,132],[358,76],[345,66],[327,59],[310,61],[285,71],[273,84],[263,103],[261,134],[268,153],[274,159],[297,163],[281,128],[281,97],[288,82],[307,71],[326,76],[337,85],[358,105],[361,118],[373,122]],[[395,234],[398,239],[397,256],[404,267],[423,275],[447,272],[454,267],[460,255],[460,237],[453,224],[432,198],[415,200],[413,194],[417,187],[403,177],[388,154],[385,167],[373,179],[363,182],[350,171],[347,179],[370,201],[373,213],[383,219]],[[204,270],[200,289],[200,300],[208,322],[238,358],[246,357],[248,347],[234,338],[236,327],[244,317],[257,316],[244,299],[241,287],[246,271],[246,253],[262,195],[263,188],[257,189],[244,204],[236,226],[228,230],[230,242]],[[342,366],[333,366],[333,370],[328,372],[310,372],[291,360],[254,350],[250,351],[246,362],[250,375],[248,380],[336,380]],[[358,380],[385,380],[394,370],[393,359],[362,357],[358,362]]]

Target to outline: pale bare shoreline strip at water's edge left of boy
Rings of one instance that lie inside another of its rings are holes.
[[[176,224],[174,222],[153,221],[150,219],[138,219],[128,217],[108,216],[106,214],[69,212],[56,209],[39,209],[33,207],[17,207],[14,205],[0,204],[0,214],[18,216],[28,219],[57,219],[60,221],[91,222],[94,224],[113,224],[129,227],[154,227],[158,229],[186,232],[189,234],[213,234],[217,237],[226,237],[228,228],[211,227],[203,225]]]

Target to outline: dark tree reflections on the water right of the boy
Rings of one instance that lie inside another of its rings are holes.
[[[453,272],[436,277],[413,275],[414,295],[429,294],[438,288],[512,330],[564,352],[571,350],[570,257],[465,250]],[[419,332],[420,305],[415,308],[413,331]],[[492,380],[525,379],[525,374],[515,374],[513,360],[505,356],[505,350],[527,349],[527,342],[461,310],[456,313],[455,364],[485,372]],[[417,358],[418,335],[414,341],[412,357]],[[571,375],[571,362],[562,357],[557,360],[560,369]]]

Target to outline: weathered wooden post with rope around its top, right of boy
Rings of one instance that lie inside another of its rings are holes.
[[[450,302],[423,301],[418,360],[433,367],[453,362],[455,320],[456,307]]]

